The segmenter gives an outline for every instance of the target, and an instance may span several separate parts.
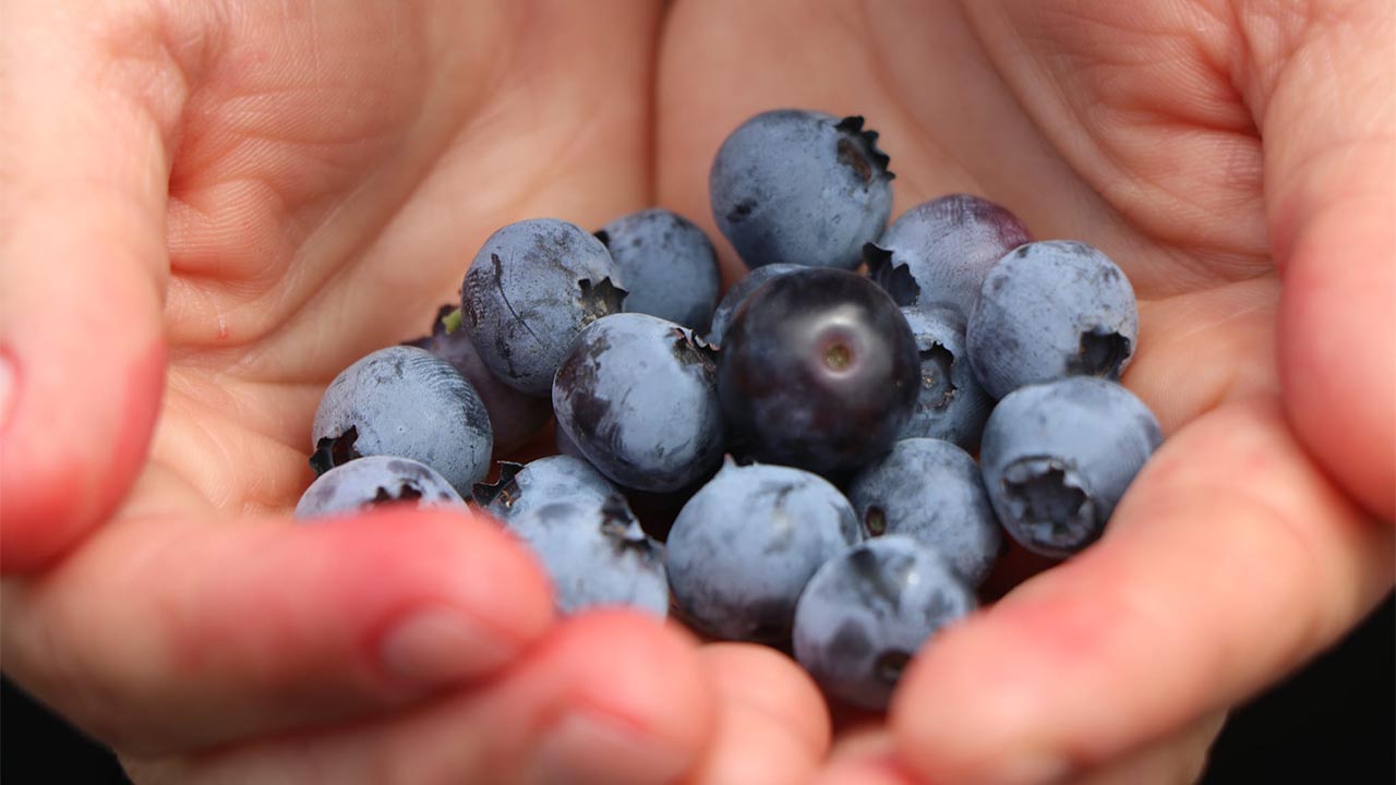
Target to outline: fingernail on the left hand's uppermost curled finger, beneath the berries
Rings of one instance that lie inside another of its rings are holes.
[[[409,684],[437,686],[489,673],[514,658],[515,648],[448,606],[420,609],[383,638],[384,669]]]

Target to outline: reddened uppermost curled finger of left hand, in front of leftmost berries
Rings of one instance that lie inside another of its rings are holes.
[[[542,573],[486,520],[207,524],[113,524],[7,584],[6,670],[107,743],[159,753],[406,705],[551,623]]]

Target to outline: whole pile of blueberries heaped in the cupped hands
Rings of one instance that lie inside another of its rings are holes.
[[[720,302],[712,243],[673,212],[504,226],[430,335],[329,384],[296,515],[475,504],[563,612],[674,612],[885,707],[1004,531],[1079,552],[1161,440],[1117,383],[1138,313],[1110,258],[973,196],[888,226],[891,182],[861,117],[741,124],[709,184],[750,274]],[[560,454],[486,483],[549,418]]]

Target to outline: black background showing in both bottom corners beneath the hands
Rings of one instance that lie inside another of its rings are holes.
[[[0,781],[127,782],[110,753],[84,742],[8,679],[0,704]],[[1342,645],[1233,712],[1202,782],[1396,782],[1393,599]]]

